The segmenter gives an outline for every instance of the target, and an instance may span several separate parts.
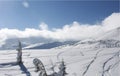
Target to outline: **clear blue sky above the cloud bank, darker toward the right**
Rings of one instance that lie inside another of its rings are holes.
[[[0,0],[0,28],[36,28],[41,22],[49,28],[62,28],[77,21],[95,24],[119,11],[116,1]]]

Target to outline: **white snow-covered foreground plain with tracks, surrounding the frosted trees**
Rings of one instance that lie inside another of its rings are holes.
[[[99,44],[77,44],[63,48],[23,50],[23,64],[16,64],[17,51],[0,51],[0,76],[38,76],[33,59],[45,66],[47,75],[59,71],[64,60],[66,76],[120,76],[120,47],[96,47]],[[52,62],[52,63],[51,63]]]

